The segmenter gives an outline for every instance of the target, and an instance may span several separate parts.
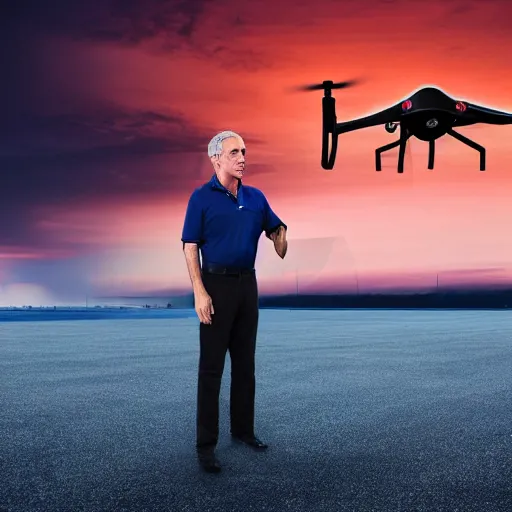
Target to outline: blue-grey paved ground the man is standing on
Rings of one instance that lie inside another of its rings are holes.
[[[253,453],[194,458],[194,318],[0,323],[1,511],[512,510],[512,314],[269,311]]]

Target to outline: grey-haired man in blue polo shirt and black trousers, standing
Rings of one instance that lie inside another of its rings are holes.
[[[262,232],[273,241],[277,254],[285,257],[287,226],[260,190],[242,184],[245,154],[244,141],[237,133],[224,131],[213,137],[208,156],[215,173],[190,196],[182,234],[200,320],[196,450],[199,463],[208,472],[221,470],[215,448],[227,350],[231,358],[231,435],[254,449],[267,448],[254,433],[259,315],[254,264]]]

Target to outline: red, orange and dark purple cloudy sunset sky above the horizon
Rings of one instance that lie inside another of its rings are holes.
[[[428,8],[426,7],[428,5]],[[512,281],[512,126],[409,142],[375,171],[382,126],[320,166],[321,91],[338,121],[425,85],[512,112],[507,0],[20,0],[0,16],[0,305],[190,291],[188,198],[211,137],[247,145],[244,183],[289,227],[260,240],[261,293],[426,290]],[[6,79],[7,77],[7,79]]]

